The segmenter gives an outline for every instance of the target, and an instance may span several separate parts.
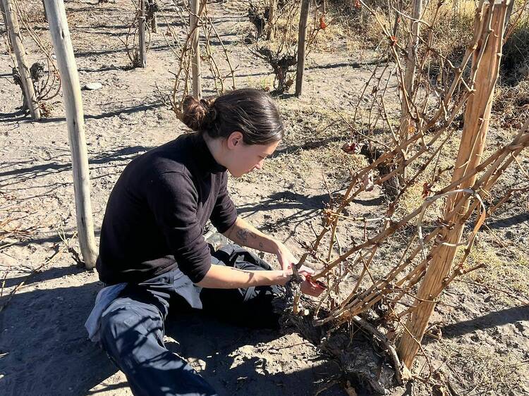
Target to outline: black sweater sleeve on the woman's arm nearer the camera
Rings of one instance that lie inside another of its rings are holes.
[[[149,206],[178,268],[194,283],[200,282],[211,267],[211,253],[197,219],[193,182],[183,173],[162,173],[148,190]]]

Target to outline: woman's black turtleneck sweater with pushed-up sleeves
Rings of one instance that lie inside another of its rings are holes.
[[[181,135],[131,161],[104,214],[99,279],[108,285],[140,283],[178,265],[200,282],[211,266],[203,237],[207,220],[224,233],[237,218],[226,182],[226,168],[196,134]]]

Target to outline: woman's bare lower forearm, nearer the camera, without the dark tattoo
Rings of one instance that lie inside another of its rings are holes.
[[[244,271],[238,268],[212,265],[197,285],[210,289],[284,285],[291,275],[285,271]]]

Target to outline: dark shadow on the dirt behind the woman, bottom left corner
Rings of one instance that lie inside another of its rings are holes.
[[[101,283],[21,289],[0,313],[1,395],[85,395],[116,369],[87,340]]]

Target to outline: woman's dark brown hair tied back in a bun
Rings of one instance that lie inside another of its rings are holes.
[[[235,89],[200,101],[186,97],[182,107],[182,122],[201,135],[229,137],[239,131],[246,144],[283,139],[283,122],[272,97],[257,89]]]

